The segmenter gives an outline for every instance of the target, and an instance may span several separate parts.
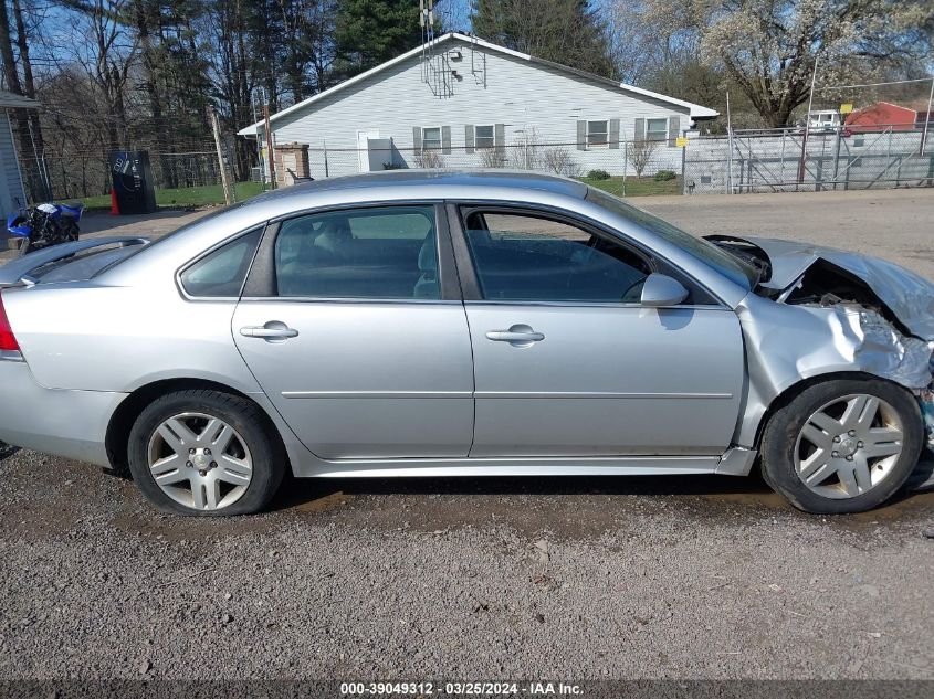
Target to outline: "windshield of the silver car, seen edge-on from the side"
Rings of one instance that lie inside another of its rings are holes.
[[[586,199],[678,245],[684,252],[692,254],[739,286],[753,288],[758,283],[759,273],[754,266],[734,257],[713,243],[691,235],[667,221],[627,204],[618,197],[588,187]]]

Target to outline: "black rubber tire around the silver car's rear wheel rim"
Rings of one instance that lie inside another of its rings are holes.
[[[149,469],[149,441],[165,421],[180,413],[204,413],[221,419],[246,443],[253,460],[252,479],[235,502],[212,510],[186,507],[169,497]],[[187,390],[156,399],[137,417],[127,448],[133,479],[153,505],[164,512],[195,517],[252,515],[265,508],[275,496],[287,456],[269,417],[252,402],[219,391]]]

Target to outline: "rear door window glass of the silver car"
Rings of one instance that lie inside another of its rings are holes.
[[[275,242],[279,296],[441,297],[433,206],[313,213],[285,221]]]

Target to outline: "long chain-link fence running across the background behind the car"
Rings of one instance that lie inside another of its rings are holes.
[[[864,127],[863,127],[864,128]],[[744,130],[692,135],[679,147],[668,139],[588,144],[531,138],[495,147],[399,147],[391,138],[369,148],[308,148],[308,171],[323,179],[358,172],[416,169],[525,170],[578,179],[620,197],[781,191],[823,191],[934,186],[934,145],[922,128],[854,130],[826,127]],[[932,129],[934,131],[934,128]],[[934,134],[932,134],[934,135]],[[265,162],[232,176],[232,151],[224,142],[231,180],[242,200],[266,186]],[[222,203],[221,170],[213,144],[149,156],[157,199],[164,204]],[[248,163],[249,165],[249,163]],[[106,153],[21,158],[33,201],[51,191],[57,200],[107,205],[111,172]],[[39,194],[36,194],[39,192]]]

